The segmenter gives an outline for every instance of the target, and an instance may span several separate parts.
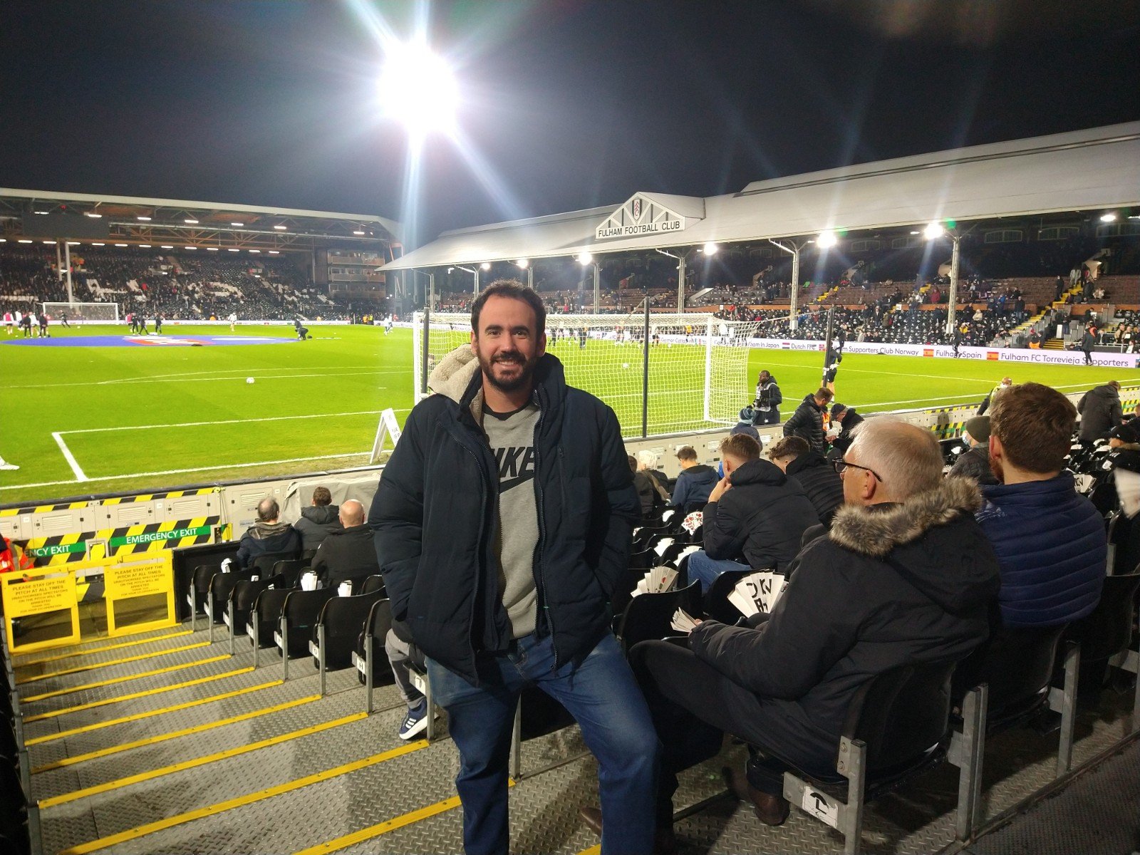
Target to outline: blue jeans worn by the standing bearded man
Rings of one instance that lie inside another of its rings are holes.
[[[605,817],[602,852],[652,852],[659,747],[621,649],[606,634],[581,665],[567,662],[557,670],[553,666],[549,636],[535,635],[513,642],[505,654],[480,654],[478,687],[427,660],[432,699],[447,710],[448,730],[459,749],[455,787],[463,803],[464,852],[507,852],[507,765],[514,710],[524,684],[538,686],[569,710],[597,758]]]

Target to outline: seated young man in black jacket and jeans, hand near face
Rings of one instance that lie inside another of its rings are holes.
[[[689,555],[689,581],[708,591],[727,570],[782,570],[819,523],[804,488],[768,461],[760,443],[736,434],[720,443],[724,478],[705,505],[705,548]]]

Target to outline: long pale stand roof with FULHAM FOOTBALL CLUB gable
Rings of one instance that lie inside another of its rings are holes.
[[[1140,206],[1140,122],[445,231],[385,270]]]

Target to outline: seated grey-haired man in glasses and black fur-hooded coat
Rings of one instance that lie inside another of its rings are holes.
[[[943,481],[930,431],[886,417],[860,429],[846,462],[846,505],[796,556],[766,622],[705,620],[687,649],[649,641],[632,651],[663,747],[658,839],[671,828],[677,772],[714,757],[724,732],[833,774],[861,685],[902,665],[961,659],[988,635],[1000,577],[974,519],[977,487]],[[747,780],[730,773],[771,825],[788,816],[782,772],[754,757]]]

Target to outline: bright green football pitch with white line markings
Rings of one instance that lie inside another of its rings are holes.
[[[285,324],[164,332],[199,336],[203,345],[152,337],[114,347],[127,337],[121,325],[54,328],[50,345],[0,336],[0,456],[21,467],[0,471],[0,504],[361,465],[381,410],[394,409],[402,423],[413,404],[408,329],[385,336],[378,327],[314,326],[304,342]],[[97,347],[64,347],[89,336],[99,336]],[[233,343],[218,347],[221,340]],[[561,341],[549,350],[570,383],[614,408],[627,437],[641,434],[636,345]],[[817,388],[821,367],[817,352],[752,350],[739,401],[723,408],[750,402],[756,374],[767,368],[787,418]],[[702,347],[651,348],[651,433],[701,421],[703,372]],[[839,369],[837,400],[862,412],[950,406],[980,400],[1007,373],[1065,392],[1140,380],[1115,368],[852,353]]]

